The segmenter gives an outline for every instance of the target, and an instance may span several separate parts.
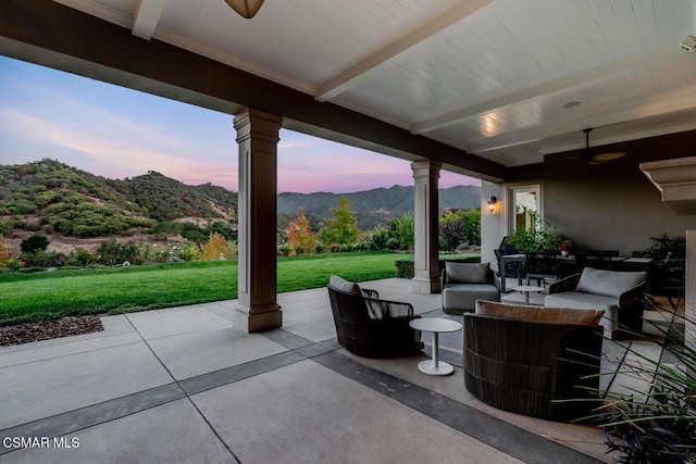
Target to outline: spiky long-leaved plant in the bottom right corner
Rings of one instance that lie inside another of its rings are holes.
[[[650,297],[646,301],[655,304]],[[675,318],[681,316],[672,314]],[[648,321],[664,336],[661,360],[629,348],[637,362],[623,362],[620,372],[647,380],[649,391],[631,389],[629,394],[612,397],[609,393],[597,409],[609,451],[621,453],[618,462],[696,462],[696,339],[692,331],[696,326],[694,321],[683,321],[685,333],[675,330],[674,325],[666,328]],[[666,363],[666,359],[670,361]]]

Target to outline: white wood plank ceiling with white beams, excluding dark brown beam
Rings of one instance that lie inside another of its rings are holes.
[[[508,166],[696,128],[694,0],[58,1]]]

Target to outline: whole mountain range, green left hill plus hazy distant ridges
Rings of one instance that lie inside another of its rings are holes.
[[[352,193],[350,209],[363,230],[385,225],[413,210],[413,187],[395,185]],[[277,196],[281,217],[303,208],[308,217],[331,217],[341,193],[314,192]],[[0,234],[13,229],[51,227],[82,237],[127,234],[162,222],[224,221],[236,227],[237,192],[212,184],[188,186],[157,172],[109,179],[45,159],[22,165],[0,165]],[[477,208],[481,188],[458,186],[439,191],[439,211]]]

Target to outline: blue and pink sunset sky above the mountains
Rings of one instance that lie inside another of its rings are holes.
[[[233,116],[0,57],[0,164],[49,158],[109,178],[157,171],[237,191]],[[278,192],[413,185],[410,162],[287,129]],[[439,187],[481,185],[443,171]]]

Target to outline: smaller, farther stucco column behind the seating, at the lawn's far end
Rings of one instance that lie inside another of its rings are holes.
[[[413,171],[413,221],[415,227],[414,276],[411,290],[437,293],[442,290],[438,262],[438,187],[442,164],[432,161],[411,163]]]

